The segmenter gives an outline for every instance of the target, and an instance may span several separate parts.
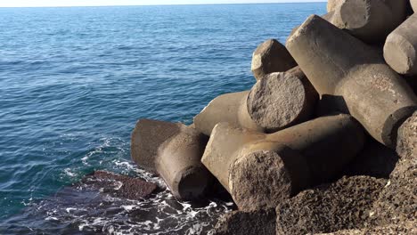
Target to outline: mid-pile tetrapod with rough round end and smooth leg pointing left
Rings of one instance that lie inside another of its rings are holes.
[[[207,135],[220,122],[271,133],[310,118],[317,100],[315,88],[295,67],[258,80],[250,92],[218,96],[194,118],[194,125]]]

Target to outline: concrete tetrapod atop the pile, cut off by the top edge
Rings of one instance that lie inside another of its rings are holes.
[[[330,21],[365,42],[383,42],[405,20],[407,4],[407,0],[331,1]]]

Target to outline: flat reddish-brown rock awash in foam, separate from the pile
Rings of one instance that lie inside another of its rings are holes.
[[[113,197],[131,200],[149,197],[158,189],[154,183],[145,182],[140,178],[105,171],[96,171],[94,174],[87,175],[83,182]]]

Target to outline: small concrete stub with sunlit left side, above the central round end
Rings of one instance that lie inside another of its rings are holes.
[[[252,56],[252,73],[257,80],[274,72],[283,72],[294,68],[297,63],[290,53],[275,39],[266,40],[258,45]]]

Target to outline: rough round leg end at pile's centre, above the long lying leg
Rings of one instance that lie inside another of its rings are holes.
[[[318,93],[306,75],[295,67],[258,80],[248,96],[250,118],[273,133],[307,121],[314,113]]]

